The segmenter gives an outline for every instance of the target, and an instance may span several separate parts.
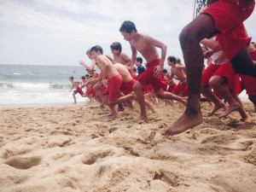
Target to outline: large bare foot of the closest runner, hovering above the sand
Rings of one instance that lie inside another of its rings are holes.
[[[201,111],[198,113],[183,113],[183,115],[177,119],[171,126],[167,127],[162,133],[163,136],[173,136],[183,131],[194,128],[196,125],[201,125],[203,122]]]

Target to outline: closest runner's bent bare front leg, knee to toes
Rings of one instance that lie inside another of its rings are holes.
[[[189,25],[185,26],[179,35],[187,70],[189,100],[185,112],[166,129],[163,133],[165,136],[172,136],[189,130],[196,125],[200,125],[203,121],[200,96],[204,59],[200,41],[202,38],[211,37],[216,31],[212,17],[201,14],[190,22]]]

